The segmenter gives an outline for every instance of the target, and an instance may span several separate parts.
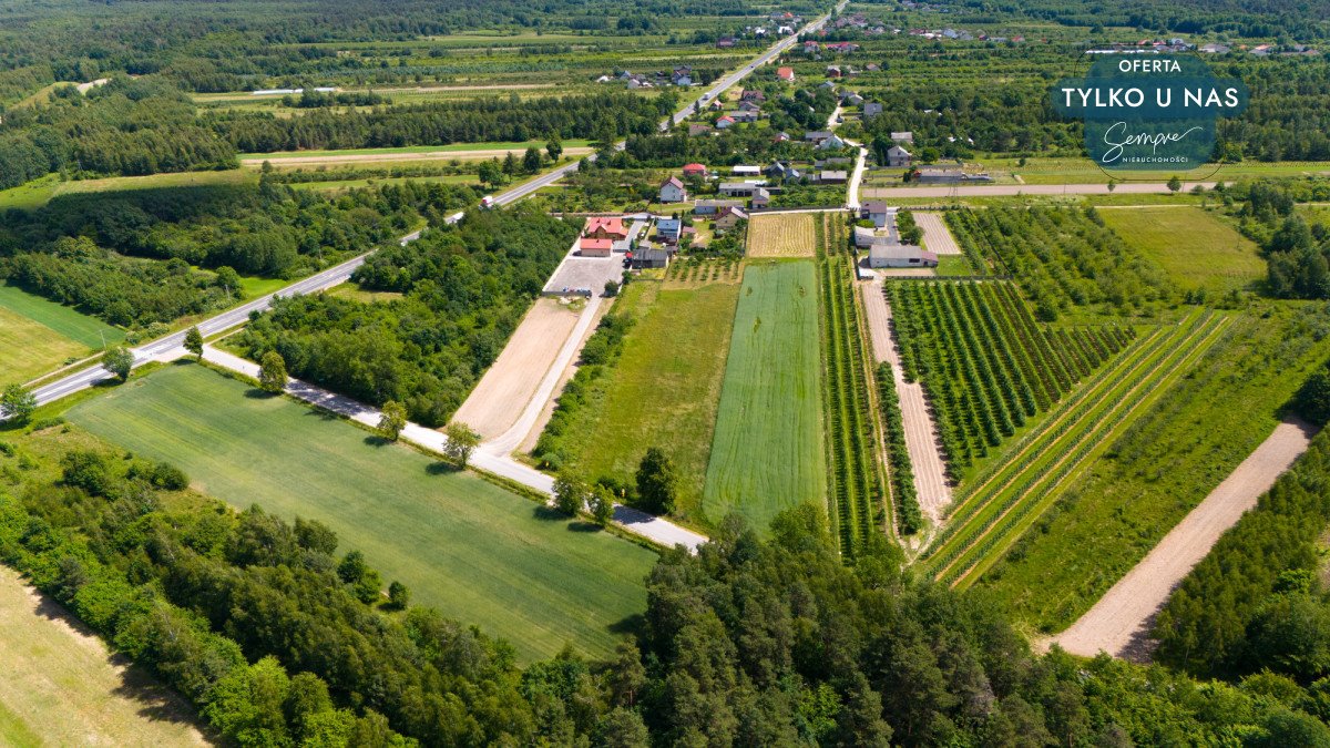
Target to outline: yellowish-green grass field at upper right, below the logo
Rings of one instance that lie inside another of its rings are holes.
[[[1256,244],[1200,208],[1123,208],[1099,214],[1184,289],[1228,291],[1265,277]]]

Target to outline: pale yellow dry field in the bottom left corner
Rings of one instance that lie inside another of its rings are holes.
[[[209,745],[193,709],[0,567],[0,743]]]

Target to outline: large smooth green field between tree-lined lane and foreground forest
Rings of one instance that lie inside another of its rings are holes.
[[[645,610],[656,555],[469,472],[197,365],[70,409],[108,442],[184,468],[194,486],[336,531],[432,606],[511,642],[523,660],[565,643],[605,656]]]

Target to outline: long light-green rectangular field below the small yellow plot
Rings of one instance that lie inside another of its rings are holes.
[[[818,286],[813,262],[749,266],[734,313],[702,510],[761,530],[826,503]]]

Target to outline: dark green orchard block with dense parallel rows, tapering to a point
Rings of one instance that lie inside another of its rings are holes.
[[[896,281],[887,293],[906,378],[923,382],[938,414],[952,480],[1134,334],[1040,327],[1004,281]]]

